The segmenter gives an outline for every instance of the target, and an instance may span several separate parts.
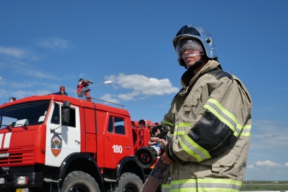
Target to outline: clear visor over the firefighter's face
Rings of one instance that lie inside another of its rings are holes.
[[[199,51],[199,53],[195,53],[195,51]],[[176,45],[176,54],[178,61],[184,57],[205,55],[201,43],[194,38],[181,39]]]

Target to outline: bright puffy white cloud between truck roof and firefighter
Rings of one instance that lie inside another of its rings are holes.
[[[177,93],[179,88],[173,87],[169,79],[157,79],[148,78],[144,75],[125,75],[119,73],[118,76],[111,75],[105,77],[107,80],[111,80],[114,84],[125,88],[131,89],[131,93],[122,93],[118,95],[122,100],[135,100],[135,96],[152,96],[152,95],[164,95]]]

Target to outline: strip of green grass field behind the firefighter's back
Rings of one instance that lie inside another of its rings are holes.
[[[288,191],[288,181],[244,182],[241,191]]]

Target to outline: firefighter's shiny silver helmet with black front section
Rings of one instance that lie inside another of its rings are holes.
[[[189,42],[187,42],[187,40]],[[201,51],[201,48],[198,48],[197,50],[200,51],[199,55],[206,55],[210,59],[217,60],[215,44],[211,35],[202,27],[185,25],[173,39],[173,46],[176,50],[179,65],[186,66],[183,60],[182,46],[187,43],[194,47],[201,46],[204,50]]]

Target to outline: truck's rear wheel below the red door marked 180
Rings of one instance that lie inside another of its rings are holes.
[[[134,173],[123,173],[119,179],[116,192],[140,192],[143,181]]]

